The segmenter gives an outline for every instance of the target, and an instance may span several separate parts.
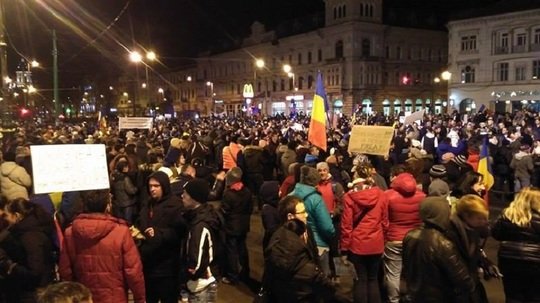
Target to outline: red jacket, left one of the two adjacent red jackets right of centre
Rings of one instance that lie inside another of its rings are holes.
[[[343,196],[341,216],[341,250],[357,255],[382,254],[383,229],[387,222],[386,197],[378,187],[349,191]],[[354,221],[364,209],[370,210],[354,227]]]

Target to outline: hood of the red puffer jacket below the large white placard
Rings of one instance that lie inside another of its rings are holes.
[[[106,214],[80,214],[72,224],[73,236],[78,239],[100,240],[123,220]]]

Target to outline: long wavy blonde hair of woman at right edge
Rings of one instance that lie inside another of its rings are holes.
[[[531,210],[540,212],[540,190],[524,188],[514,201],[502,211],[505,218],[520,227],[527,227],[531,223]]]

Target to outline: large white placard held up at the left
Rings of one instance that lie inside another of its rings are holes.
[[[32,145],[36,194],[109,188],[104,144]]]

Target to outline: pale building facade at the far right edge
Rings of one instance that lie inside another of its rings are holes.
[[[540,103],[540,9],[451,21],[450,104],[511,112]]]

